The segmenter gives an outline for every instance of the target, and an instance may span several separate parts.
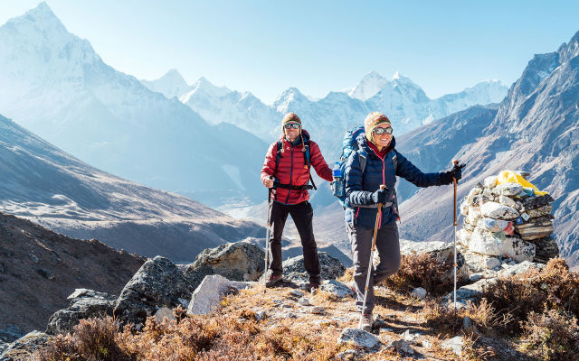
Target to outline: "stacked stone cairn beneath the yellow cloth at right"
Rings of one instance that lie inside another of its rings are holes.
[[[457,234],[460,252],[479,270],[495,269],[505,261],[546,264],[559,255],[552,236],[553,201],[519,183],[498,184],[496,176],[486,178],[460,205],[464,216]]]

